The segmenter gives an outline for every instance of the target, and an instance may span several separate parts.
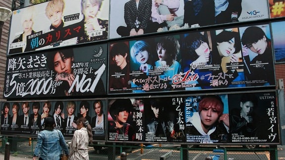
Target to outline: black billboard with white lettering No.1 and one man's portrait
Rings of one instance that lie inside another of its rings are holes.
[[[105,95],[107,45],[7,58],[4,98]]]

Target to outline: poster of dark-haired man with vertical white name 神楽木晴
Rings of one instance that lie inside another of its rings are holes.
[[[108,140],[143,141],[142,99],[113,99],[108,104]]]

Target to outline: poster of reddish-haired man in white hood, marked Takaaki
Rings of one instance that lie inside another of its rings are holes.
[[[227,100],[227,94],[185,97],[186,142],[231,142]]]

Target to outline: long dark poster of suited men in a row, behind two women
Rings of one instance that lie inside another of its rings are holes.
[[[1,103],[1,134],[36,136],[45,129],[45,119],[53,118],[54,128],[72,137],[77,120],[85,118],[94,140],[105,140],[106,100],[56,100]]]

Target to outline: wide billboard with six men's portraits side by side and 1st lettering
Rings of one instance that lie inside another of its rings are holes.
[[[275,85],[271,39],[264,24],[111,42],[108,94]]]

